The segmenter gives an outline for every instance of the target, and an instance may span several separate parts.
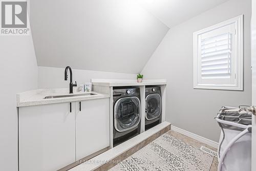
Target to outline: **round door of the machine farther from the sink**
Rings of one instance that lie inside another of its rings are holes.
[[[145,98],[146,119],[153,120],[160,116],[162,111],[161,96],[159,94],[149,94]]]

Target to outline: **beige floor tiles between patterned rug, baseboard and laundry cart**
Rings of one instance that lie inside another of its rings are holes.
[[[206,144],[204,144],[202,142],[199,142],[199,141],[197,141],[195,139],[189,138],[189,137],[187,137],[187,136],[185,136],[183,134],[177,133],[175,131],[170,130],[170,131],[167,132],[167,134],[169,134],[169,135],[171,135],[171,136],[173,136],[173,137],[175,137],[175,138],[177,138],[179,140],[182,140],[182,141],[184,141],[187,144],[193,145],[195,147],[200,148],[201,146],[205,146],[205,147],[207,147],[209,149],[212,149],[212,150],[217,152],[216,148],[211,147],[209,145],[206,145]],[[214,161],[212,162],[209,171],[217,171],[217,170],[218,170],[218,158],[214,157]]]

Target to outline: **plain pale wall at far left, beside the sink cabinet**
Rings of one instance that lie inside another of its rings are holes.
[[[32,36],[0,37],[0,170],[18,167],[16,93],[37,88]]]

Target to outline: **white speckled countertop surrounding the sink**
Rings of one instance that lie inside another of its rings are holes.
[[[57,96],[57,95],[69,95],[69,89],[37,89],[26,91],[17,94],[17,107],[51,104],[51,103],[62,103],[72,102],[80,100],[91,100],[99,98],[109,98],[107,94],[101,94],[98,92],[75,92],[73,94],[90,94],[95,95],[84,95],[84,96],[73,96],[73,97],[61,97],[61,98],[49,98],[44,99],[46,96]]]

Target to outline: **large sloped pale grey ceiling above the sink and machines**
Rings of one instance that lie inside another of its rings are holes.
[[[168,27],[131,0],[33,0],[38,66],[139,73]]]

